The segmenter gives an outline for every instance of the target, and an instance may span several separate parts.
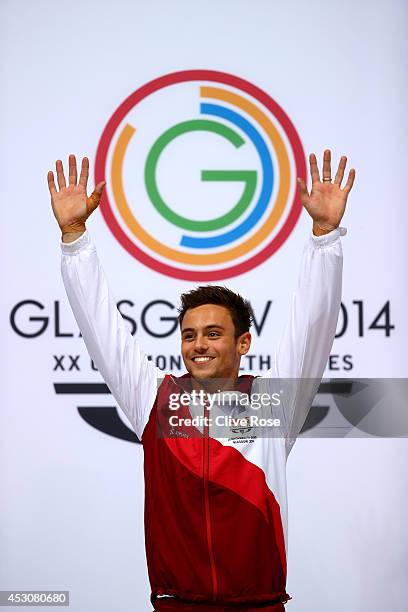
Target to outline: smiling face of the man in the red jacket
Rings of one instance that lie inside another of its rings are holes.
[[[196,380],[235,379],[241,357],[250,345],[249,332],[235,338],[231,313],[224,306],[203,304],[184,315],[181,354],[187,371]]]

